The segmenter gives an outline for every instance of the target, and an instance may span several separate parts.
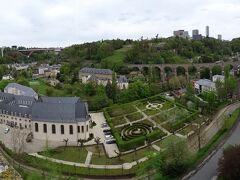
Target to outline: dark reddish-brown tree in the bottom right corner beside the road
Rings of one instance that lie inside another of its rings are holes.
[[[218,161],[219,177],[225,180],[240,179],[240,146],[232,145],[224,149]]]

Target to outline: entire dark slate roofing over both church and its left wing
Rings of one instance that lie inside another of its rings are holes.
[[[87,103],[78,97],[41,97],[35,100],[0,92],[0,100],[0,112],[31,115],[32,121],[76,123],[90,118]]]

